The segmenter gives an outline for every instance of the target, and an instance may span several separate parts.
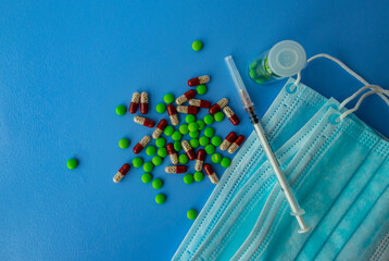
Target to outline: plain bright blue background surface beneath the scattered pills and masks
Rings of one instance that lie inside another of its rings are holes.
[[[389,87],[386,0],[3,0],[0,13],[0,260],[171,259],[192,223],[186,211],[200,211],[214,186],[206,178],[188,186],[159,166],[152,173],[165,181],[167,201],[158,206],[142,170],[112,182],[134,158],[117,141],[128,137],[133,147],[145,134],[128,113],[115,114],[135,90],[149,91],[148,116],[156,120],[164,94],[178,96],[188,78],[210,74],[206,98],[230,98],[242,120],[235,129],[249,135],[223,59],[235,57],[262,115],[285,80],[258,86],[246,69],[284,39]],[[201,52],[191,50],[198,38]],[[361,87],[326,60],[312,62],[302,82],[338,100]],[[389,136],[389,110],[377,97],[356,114]],[[216,133],[230,126],[225,120]],[[72,157],[80,162],[75,171],[66,169]]]

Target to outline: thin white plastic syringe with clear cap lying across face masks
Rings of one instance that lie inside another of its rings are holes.
[[[237,90],[239,92],[239,97],[243,103],[243,107],[244,107],[247,113],[249,113],[250,121],[251,121],[252,125],[254,126],[258,137],[260,138],[263,150],[265,151],[268,162],[271,163],[273,171],[276,174],[276,177],[278,179],[278,183],[281,186],[285,197],[290,206],[290,209],[291,209],[290,214],[294,215],[299,223],[299,226],[300,226],[299,233],[310,232],[312,229],[312,227],[306,226],[304,220],[302,219],[302,215],[305,213],[305,211],[300,208],[300,206],[293,195],[293,191],[289,187],[289,184],[288,184],[287,179],[285,178],[285,175],[284,175],[281,169],[279,167],[278,161],[277,161],[276,157],[274,156],[274,152],[266,139],[266,136],[262,128],[261,122],[258,119],[256,113],[254,112],[254,107],[253,107],[254,104],[252,103],[252,101],[250,99],[250,96],[244,87],[244,84],[243,84],[241,77],[240,77],[239,71],[238,71],[237,66],[235,65],[233,57],[231,55],[226,57],[225,61],[228,66],[228,71],[233,77],[234,84],[237,87]]]

